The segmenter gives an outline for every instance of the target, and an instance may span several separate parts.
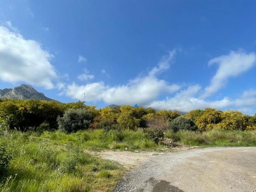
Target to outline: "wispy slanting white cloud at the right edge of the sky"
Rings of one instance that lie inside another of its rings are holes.
[[[249,70],[256,64],[256,54],[231,51],[228,55],[222,55],[209,61],[209,65],[214,63],[219,65],[218,70],[213,76],[211,84],[205,88],[202,98],[207,98],[223,88],[229,77],[238,76]]]

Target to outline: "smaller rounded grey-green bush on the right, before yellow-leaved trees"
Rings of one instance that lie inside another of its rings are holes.
[[[179,130],[195,131],[198,129],[195,122],[192,119],[186,117],[177,117],[170,123],[170,127],[174,132]]]

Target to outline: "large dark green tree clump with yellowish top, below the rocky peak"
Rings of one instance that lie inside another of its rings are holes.
[[[56,119],[64,112],[64,104],[57,101],[4,100],[0,102],[0,117],[7,118],[10,128],[26,131],[47,122],[57,129]]]

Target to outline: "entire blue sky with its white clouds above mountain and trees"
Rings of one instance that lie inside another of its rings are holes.
[[[256,112],[256,1],[0,0],[0,89]]]

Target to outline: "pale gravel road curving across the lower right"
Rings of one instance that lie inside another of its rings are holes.
[[[256,192],[256,147],[201,148],[152,156],[113,192]]]

